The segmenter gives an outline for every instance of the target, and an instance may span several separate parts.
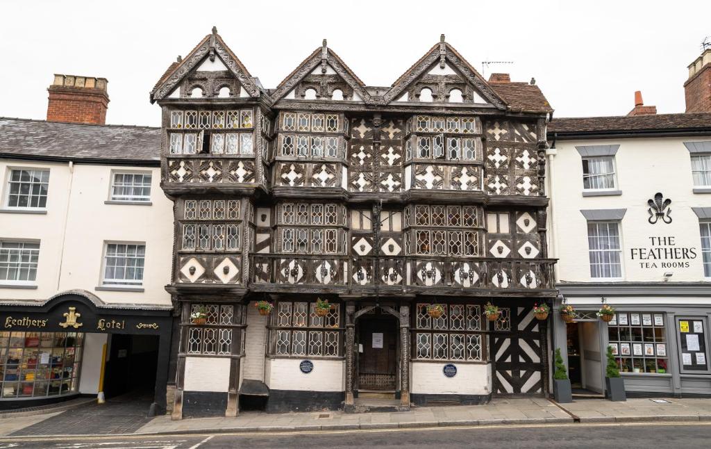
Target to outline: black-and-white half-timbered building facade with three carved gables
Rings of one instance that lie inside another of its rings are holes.
[[[389,88],[324,41],[265,89],[213,29],[151,101],[175,205],[174,418],[547,392],[537,86],[485,80],[442,36]]]

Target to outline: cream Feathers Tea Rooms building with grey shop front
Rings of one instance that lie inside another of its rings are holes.
[[[563,118],[548,139],[556,306],[578,316],[555,313],[554,347],[574,389],[604,392],[610,346],[628,395],[711,393],[711,114]]]

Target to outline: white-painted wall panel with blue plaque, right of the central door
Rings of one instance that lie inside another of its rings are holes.
[[[410,392],[422,394],[491,393],[491,364],[455,364],[456,376],[444,376],[447,363],[410,363]]]

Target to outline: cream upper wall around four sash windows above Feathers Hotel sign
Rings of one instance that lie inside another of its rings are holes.
[[[3,288],[0,300],[47,300],[71,289],[87,290],[117,304],[170,305],[173,210],[160,188],[158,167],[48,164],[0,160],[1,204],[9,169],[49,169],[46,214],[2,213],[0,238],[40,241],[37,288]],[[105,204],[112,170],[151,173],[151,206]],[[105,241],[146,244],[144,292],[95,290],[101,285]],[[1,282],[0,282],[1,283]]]

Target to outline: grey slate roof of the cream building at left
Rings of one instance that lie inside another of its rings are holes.
[[[0,157],[159,164],[161,129],[0,117]]]

